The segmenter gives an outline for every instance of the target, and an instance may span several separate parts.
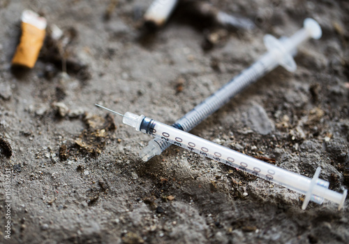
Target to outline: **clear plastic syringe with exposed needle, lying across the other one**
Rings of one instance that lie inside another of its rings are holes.
[[[223,164],[246,171],[260,178],[275,182],[283,187],[287,187],[295,192],[306,195],[302,205],[303,210],[306,208],[309,201],[321,204],[324,199],[338,203],[339,210],[343,207],[347,190],[345,189],[343,194],[340,194],[328,189],[329,182],[318,178],[320,167],[315,171],[313,179],[307,178],[304,175],[299,175],[272,164],[262,162],[258,159],[236,152],[230,148],[225,148],[222,145],[212,143],[211,141],[181,131],[180,129],[171,127],[167,124],[151,120],[149,117],[145,117],[144,115],[135,115],[130,112],[122,115],[121,113],[114,112],[113,110],[101,105],[96,104],[96,106],[123,116],[122,122],[134,127],[136,131],[142,131],[145,134],[156,136],[156,138],[161,138],[163,141],[168,143],[178,145],[181,148],[191,150],[205,157],[209,157],[210,159],[214,159]]]

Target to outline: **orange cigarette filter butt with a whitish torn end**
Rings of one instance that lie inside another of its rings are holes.
[[[22,36],[12,64],[33,68],[43,47],[47,22],[31,10],[24,10],[21,19]]]

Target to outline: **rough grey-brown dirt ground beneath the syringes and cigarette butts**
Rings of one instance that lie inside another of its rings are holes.
[[[349,187],[348,1],[211,2],[258,28],[178,10],[142,36],[151,0],[0,1],[1,243],[348,243],[348,199],[302,210],[304,196],[181,148],[141,162],[151,138],[94,106],[172,124],[258,59],[265,34],[313,17],[323,36],[299,48],[295,73],[275,69],[192,133],[310,178],[321,166],[330,189]],[[76,34],[68,76],[47,53],[11,69],[24,9]]]

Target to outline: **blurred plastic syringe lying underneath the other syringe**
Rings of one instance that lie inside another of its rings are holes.
[[[292,55],[295,55],[297,46],[311,37],[318,39],[321,35],[322,31],[320,25],[310,18],[304,20],[304,28],[297,31],[290,38],[281,38],[279,41],[274,38],[274,36],[266,35],[264,37],[264,43],[268,52],[265,53],[265,55],[260,57],[260,59],[248,69],[245,69],[238,76],[230,80],[230,82],[221,87],[221,89],[218,89],[218,91],[202,101],[202,103],[193,108],[193,110],[186,113],[184,117],[181,117],[181,119],[177,120],[172,126],[183,131],[190,131],[200,124],[202,120],[205,120],[205,118],[218,110],[218,108],[228,103],[228,101],[237,93],[241,92],[242,89],[264,76],[265,73],[272,71],[276,66],[281,65],[288,71],[295,71],[297,65]],[[149,141],[147,147],[141,150],[140,157],[147,162],[155,155],[160,155],[161,152],[170,145],[171,144],[167,141],[154,138]]]

